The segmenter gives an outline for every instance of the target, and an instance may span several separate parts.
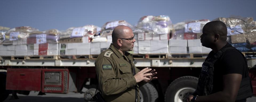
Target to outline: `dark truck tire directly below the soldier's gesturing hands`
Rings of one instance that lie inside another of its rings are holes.
[[[156,102],[158,92],[151,83],[147,83],[139,88],[140,102]]]

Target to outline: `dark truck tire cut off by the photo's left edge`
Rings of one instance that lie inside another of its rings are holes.
[[[6,74],[0,72],[0,102],[4,101],[9,96],[9,91],[5,90]]]

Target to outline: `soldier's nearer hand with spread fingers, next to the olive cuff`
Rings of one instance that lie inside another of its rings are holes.
[[[147,76],[151,76],[152,73],[148,73],[149,71],[151,71],[152,69],[144,68],[141,71],[139,71],[137,74],[135,74],[133,77],[136,79],[136,82],[141,82],[142,80],[151,80],[150,78],[148,78]]]

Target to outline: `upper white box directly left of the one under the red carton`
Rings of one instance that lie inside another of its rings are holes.
[[[169,46],[187,47],[187,40],[170,39]]]

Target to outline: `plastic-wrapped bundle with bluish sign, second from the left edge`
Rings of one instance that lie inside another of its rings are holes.
[[[4,41],[3,44],[6,44],[6,45],[13,44],[13,41],[27,39],[27,37],[29,37],[30,33],[33,31],[39,31],[39,30],[29,26],[22,26],[22,27],[9,29],[5,33],[6,40]],[[26,40],[24,41],[26,42]]]

